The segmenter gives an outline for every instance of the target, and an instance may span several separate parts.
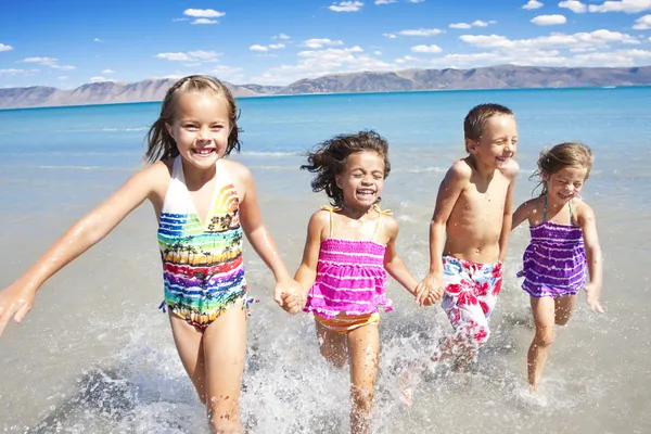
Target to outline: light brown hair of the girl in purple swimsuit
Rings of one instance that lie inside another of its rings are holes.
[[[542,193],[540,194],[547,194],[547,182],[544,177],[549,177],[561,170],[563,167],[584,167],[586,169],[587,180],[592,170],[593,162],[595,155],[592,154],[592,150],[579,142],[559,143],[550,150],[542,151],[538,158],[538,169],[531,176],[531,178],[538,180],[538,184],[534,191],[542,186]]]

